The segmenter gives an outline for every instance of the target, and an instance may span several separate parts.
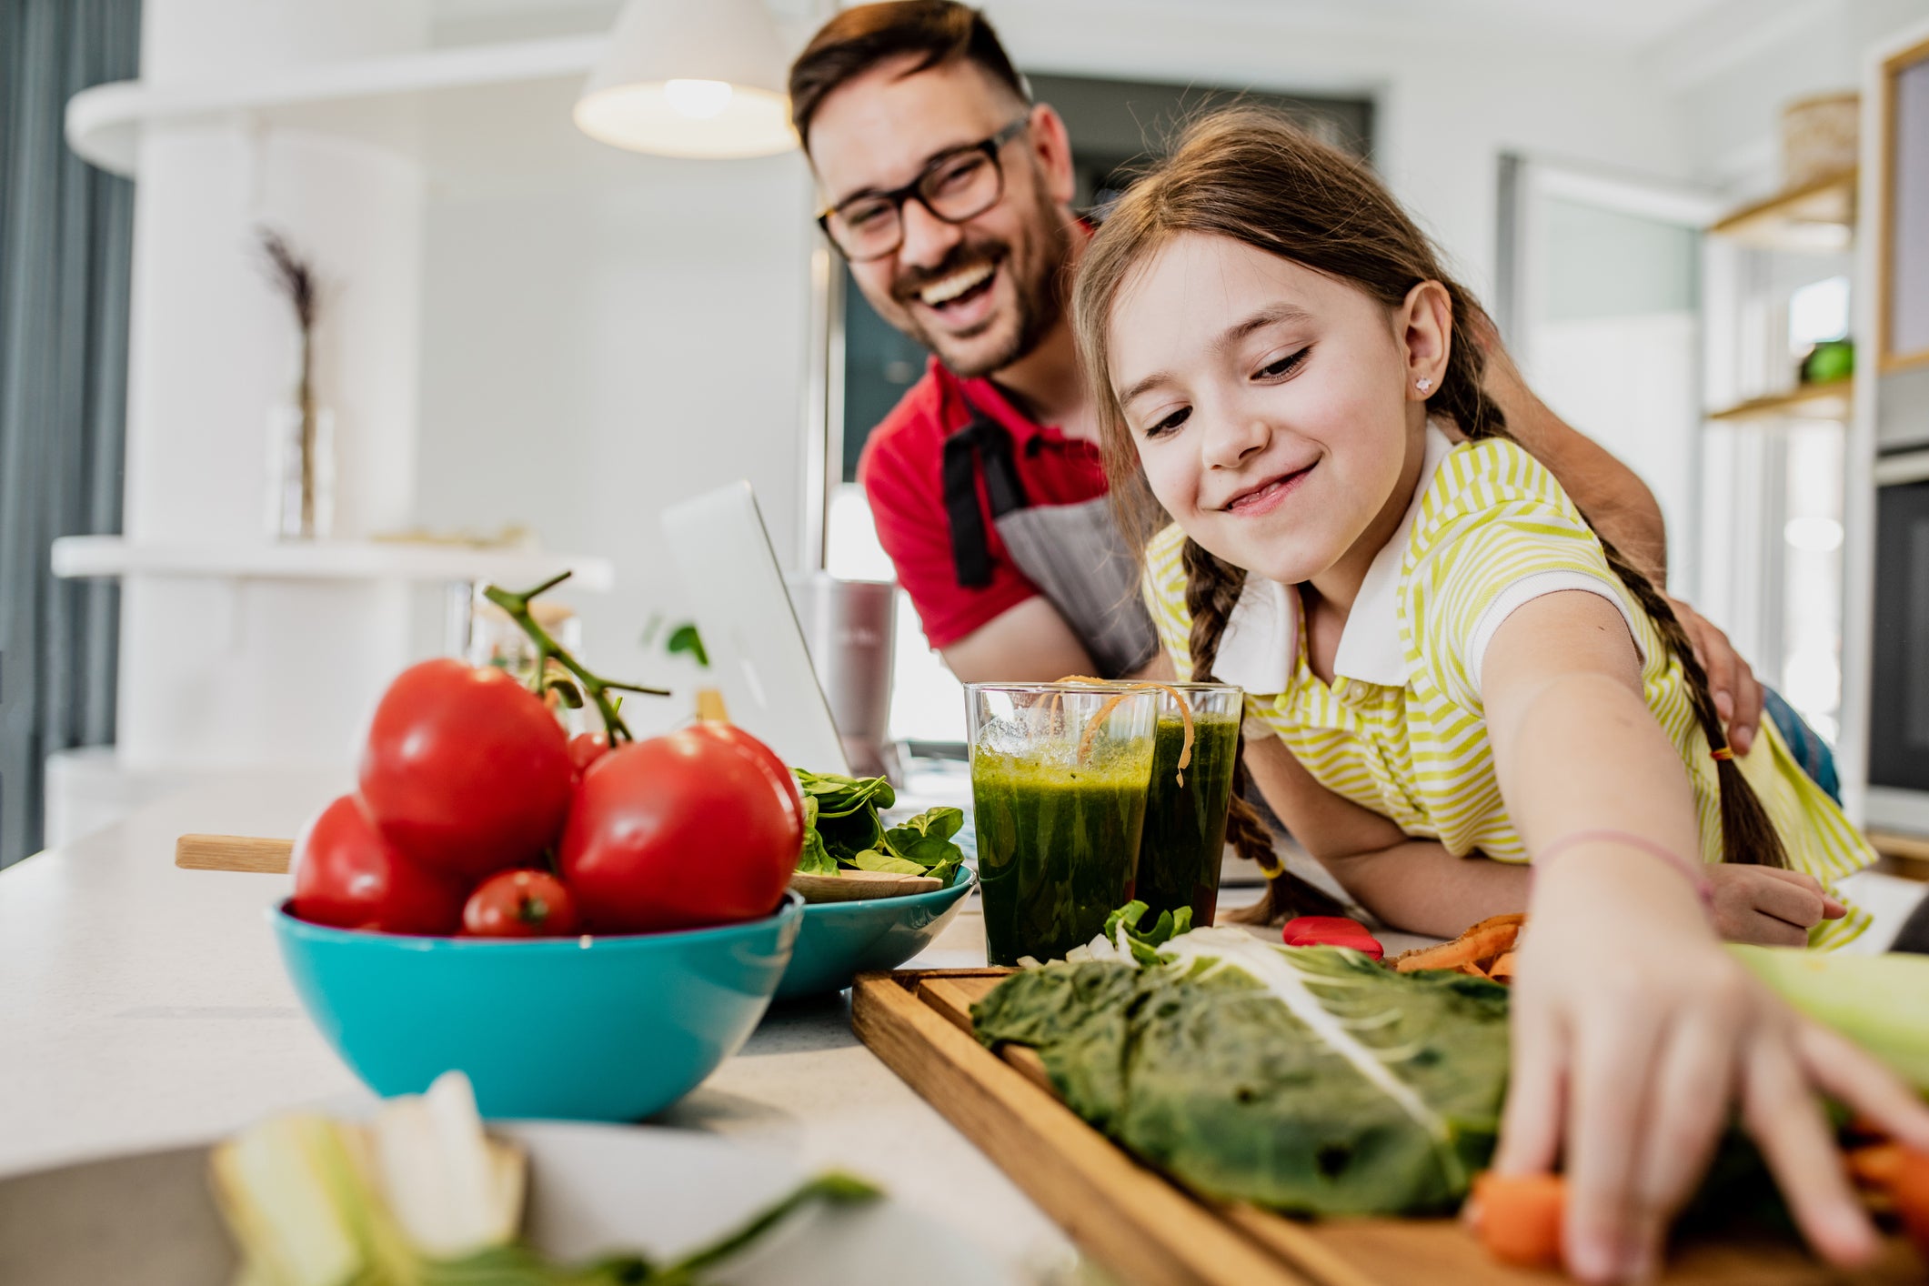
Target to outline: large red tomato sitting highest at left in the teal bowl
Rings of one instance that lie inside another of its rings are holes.
[[[411,858],[480,879],[542,856],[563,829],[571,777],[569,738],[529,688],[440,657],[382,694],[361,794]]]

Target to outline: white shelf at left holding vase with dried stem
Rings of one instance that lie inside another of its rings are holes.
[[[174,576],[204,580],[498,580],[536,584],[559,571],[575,573],[573,588],[608,592],[615,586],[610,559],[527,549],[384,540],[291,540],[285,544],[154,544],[122,536],[62,536],[54,542],[54,575]]]

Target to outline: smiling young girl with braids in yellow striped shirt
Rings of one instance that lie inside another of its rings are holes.
[[[1167,650],[1254,694],[1254,779],[1383,920],[1530,906],[1495,1165],[1562,1161],[1574,1273],[1653,1271],[1730,1103],[1807,1238],[1863,1259],[1815,1093],[1915,1147],[1929,1111],[1713,920],[1846,939],[1819,881],[1871,854],[1771,727],[1728,750],[1667,600],[1507,438],[1472,314],[1358,162],[1263,112],[1208,118],[1115,206],[1074,326],[1115,496],[1171,521]]]

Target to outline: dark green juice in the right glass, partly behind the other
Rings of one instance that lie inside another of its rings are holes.
[[[1179,752],[1186,725],[1159,715],[1152,744],[1152,787],[1146,792],[1146,829],[1138,846],[1134,897],[1159,912],[1192,908],[1192,924],[1211,924],[1219,908],[1219,856],[1225,850],[1225,816],[1233,800],[1233,762],[1238,756],[1238,715],[1192,715],[1192,764],[1179,785]]]

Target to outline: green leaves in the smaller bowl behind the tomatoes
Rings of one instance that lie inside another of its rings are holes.
[[[831,875],[839,868],[934,875],[949,885],[964,862],[964,850],[951,843],[964,825],[963,810],[928,808],[885,829],[880,814],[897,804],[897,792],[883,777],[791,771],[804,796],[804,852],[797,870],[808,875]]]

